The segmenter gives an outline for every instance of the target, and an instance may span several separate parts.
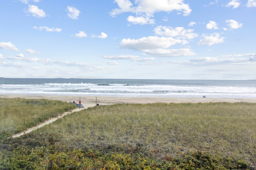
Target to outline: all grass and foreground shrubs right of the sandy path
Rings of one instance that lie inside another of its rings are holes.
[[[0,169],[252,170],[255,122],[252,103],[95,106],[2,139]]]

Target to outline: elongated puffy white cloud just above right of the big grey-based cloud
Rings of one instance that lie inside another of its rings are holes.
[[[154,29],[156,35],[162,35],[166,37],[177,37],[179,39],[193,39],[198,35],[193,33],[194,29],[184,29],[184,27],[167,27],[167,26],[157,26]]]

